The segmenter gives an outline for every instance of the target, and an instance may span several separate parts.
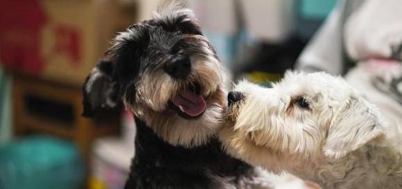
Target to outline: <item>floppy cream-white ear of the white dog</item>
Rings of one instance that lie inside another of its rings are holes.
[[[371,140],[384,136],[378,110],[365,99],[352,98],[339,108],[334,116],[324,154],[329,158],[341,158]]]

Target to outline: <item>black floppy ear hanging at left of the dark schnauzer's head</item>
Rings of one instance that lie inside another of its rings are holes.
[[[84,112],[82,115],[91,117],[101,108],[114,108],[118,100],[118,85],[112,78],[113,65],[111,60],[101,60],[92,69],[82,88]]]

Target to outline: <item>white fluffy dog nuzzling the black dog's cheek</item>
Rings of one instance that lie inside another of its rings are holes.
[[[241,81],[220,137],[228,152],[323,188],[402,188],[402,156],[379,111],[340,77],[292,73]]]

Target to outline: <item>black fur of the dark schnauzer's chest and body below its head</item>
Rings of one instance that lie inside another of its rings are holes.
[[[245,176],[252,167],[222,151],[216,138],[207,145],[186,149],[174,147],[158,138],[137,120],[135,158],[126,189],[131,188],[218,188],[211,178],[232,178],[234,182]]]

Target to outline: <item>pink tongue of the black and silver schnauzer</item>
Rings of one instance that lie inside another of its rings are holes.
[[[207,105],[205,104],[204,97],[195,94],[191,90],[181,90],[172,102],[175,106],[181,107],[187,115],[197,116],[205,111]]]

